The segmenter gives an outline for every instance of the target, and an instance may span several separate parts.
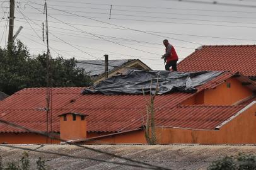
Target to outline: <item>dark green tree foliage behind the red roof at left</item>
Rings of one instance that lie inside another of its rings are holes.
[[[29,57],[28,49],[17,41],[8,49],[0,47],[0,91],[13,94],[23,88],[47,86],[47,57]],[[76,67],[76,60],[62,57],[50,60],[50,81],[52,87],[85,87],[92,84],[84,69]]]

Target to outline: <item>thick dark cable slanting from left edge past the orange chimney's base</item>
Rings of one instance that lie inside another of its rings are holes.
[[[147,168],[149,168],[149,169],[163,169],[163,170],[168,169],[168,170],[170,170],[169,168],[166,168],[166,167],[154,166],[154,165],[148,164],[146,162],[136,161],[136,160],[133,160],[133,159],[130,159],[130,158],[127,158],[127,157],[122,157],[122,156],[112,154],[110,152],[105,152],[105,151],[94,149],[94,148],[91,148],[91,147],[86,147],[85,145],[74,144],[74,143],[68,142],[66,140],[50,136],[50,135],[48,135],[48,133],[38,132],[36,130],[30,130],[29,128],[26,128],[26,127],[23,127],[23,126],[20,126],[20,125],[16,125],[15,123],[6,122],[5,120],[0,119],[0,123],[4,123],[6,125],[10,125],[11,127],[15,127],[15,128],[21,128],[21,129],[26,130],[27,132],[30,132],[30,133],[36,133],[38,135],[43,135],[45,137],[50,137],[50,139],[60,140],[61,142],[66,142],[66,144],[75,145],[77,147],[81,147],[83,149],[88,149],[88,150],[91,150],[91,151],[94,151],[94,152],[98,152],[100,154],[106,154],[107,156],[117,157],[119,159],[124,159],[125,161],[130,161],[130,162],[135,162],[135,163],[138,163],[138,164],[143,164],[144,166],[147,166]]]

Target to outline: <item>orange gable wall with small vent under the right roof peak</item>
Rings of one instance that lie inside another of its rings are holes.
[[[230,84],[230,88],[227,87]],[[214,89],[206,89],[183,101],[182,105],[233,105],[252,96],[253,92],[235,78],[230,78]]]

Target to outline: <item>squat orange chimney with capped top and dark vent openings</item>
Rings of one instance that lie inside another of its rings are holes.
[[[63,113],[59,115],[62,140],[86,139],[87,122],[82,113]]]

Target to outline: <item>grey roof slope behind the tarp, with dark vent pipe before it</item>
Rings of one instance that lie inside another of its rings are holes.
[[[134,60],[108,60],[108,72],[120,67],[127,62]],[[86,72],[90,72],[90,76],[100,76],[105,72],[105,60],[78,60],[76,66],[85,69]],[[116,67],[113,67],[116,66]]]

